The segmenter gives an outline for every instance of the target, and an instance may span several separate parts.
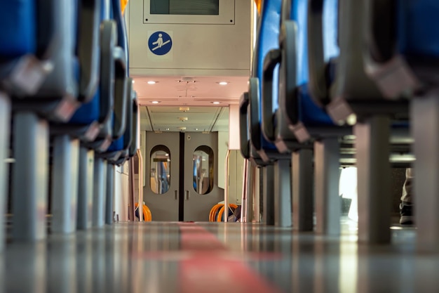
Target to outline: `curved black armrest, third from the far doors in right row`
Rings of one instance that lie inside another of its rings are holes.
[[[273,77],[274,69],[276,65],[281,63],[281,60],[281,49],[270,50],[264,58],[262,74],[262,134],[271,143],[275,140],[273,125]],[[278,84],[274,86],[278,86]]]

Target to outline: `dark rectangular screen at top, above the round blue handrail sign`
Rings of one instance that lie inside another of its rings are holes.
[[[151,14],[219,15],[219,0],[151,0]]]

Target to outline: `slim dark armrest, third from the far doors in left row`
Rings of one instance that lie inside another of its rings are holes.
[[[113,52],[114,56],[114,123],[113,139],[120,138],[126,128],[127,115],[127,86],[131,86],[130,79],[126,77],[126,60],[125,52],[122,48],[116,47]]]

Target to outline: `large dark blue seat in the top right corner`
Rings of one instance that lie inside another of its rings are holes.
[[[381,93],[393,100],[410,98],[415,91],[437,85],[439,39],[433,27],[438,24],[438,3],[398,0],[382,1],[379,6],[367,1],[367,5],[377,8],[366,24],[370,32],[366,69]],[[381,13],[389,19],[379,19]]]

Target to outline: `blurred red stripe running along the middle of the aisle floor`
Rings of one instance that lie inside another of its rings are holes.
[[[193,257],[180,261],[180,293],[278,292],[243,261],[227,257],[226,247],[208,230],[195,223],[182,223],[180,231],[182,249],[194,252]]]

